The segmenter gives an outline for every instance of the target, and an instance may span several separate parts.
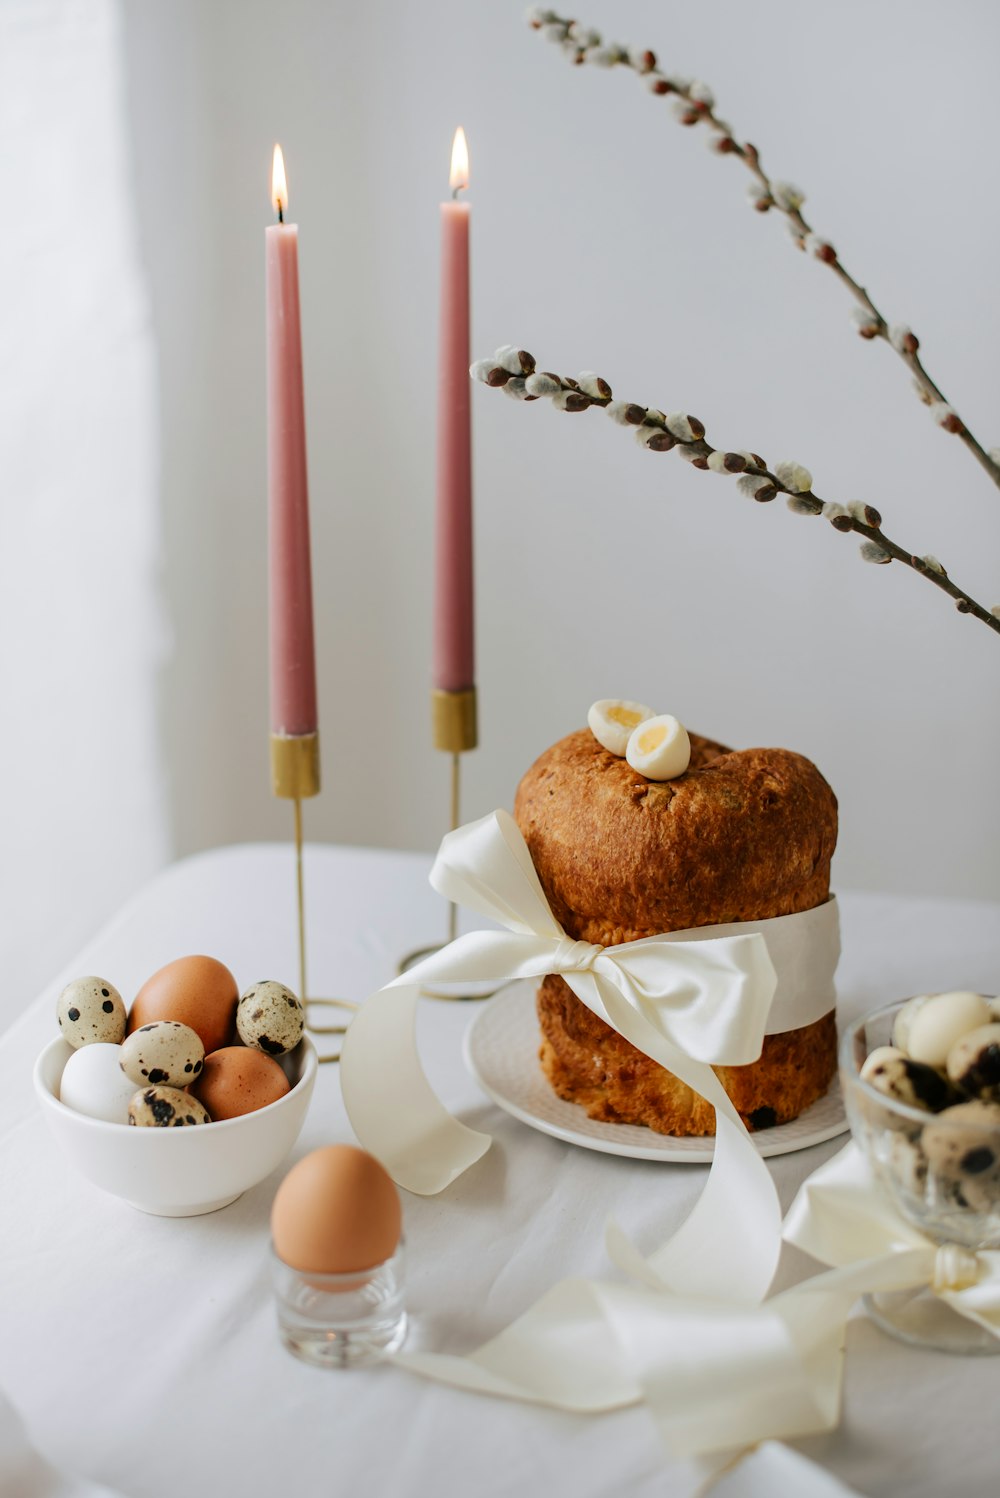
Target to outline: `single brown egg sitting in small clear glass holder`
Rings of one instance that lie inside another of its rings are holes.
[[[271,1209],[274,1252],[313,1275],[374,1269],[392,1257],[401,1230],[400,1192],[355,1144],[328,1144],[299,1159]]]

